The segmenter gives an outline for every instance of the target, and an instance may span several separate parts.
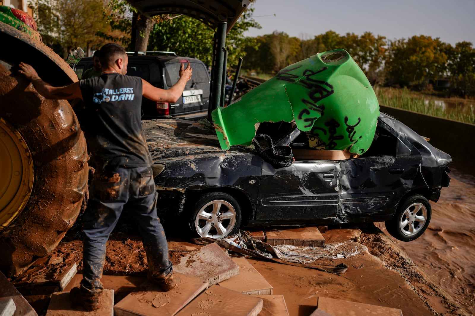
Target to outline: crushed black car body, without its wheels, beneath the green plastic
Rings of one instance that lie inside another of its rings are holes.
[[[187,197],[223,191],[246,208],[248,225],[382,221],[408,194],[437,201],[450,181],[450,156],[385,114],[363,155],[344,160],[295,156],[285,168],[274,168],[253,146],[222,150],[215,132],[199,123],[148,120],[142,127],[157,171],[159,214],[180,214]],[[297,149],[292,138],[282,139]]]

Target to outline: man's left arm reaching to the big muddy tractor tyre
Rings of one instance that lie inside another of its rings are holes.
[[[24,75],[35,87],[39,94],[46,99],[82,99],[81,89],[79,88],[79,82],[72,83],[66,87],[53,87],[43,81],[33,67],[28,63],[20,63],[20,70],[18,71]]]

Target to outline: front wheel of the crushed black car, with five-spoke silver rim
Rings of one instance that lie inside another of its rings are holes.
[[[235,198],[223,192],[203,194],[191,212],[191,230],[196,237],[225,238],[241,225],[241,207]]]

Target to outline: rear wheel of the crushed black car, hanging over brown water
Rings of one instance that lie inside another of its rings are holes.
[[[424,233],[431,215],[429,200],[420,194],[414,194],[401,200],[394,217],[384,224],[391,236],[410,242]]]

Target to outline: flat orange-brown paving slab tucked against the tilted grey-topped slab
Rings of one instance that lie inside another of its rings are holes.
[[[232,258],[239,267],[239,274],[219,282],[218,285],[243,294],[272,294],[273,288],[264,277],[257,272],[246,258]]]

